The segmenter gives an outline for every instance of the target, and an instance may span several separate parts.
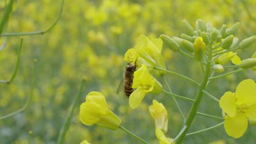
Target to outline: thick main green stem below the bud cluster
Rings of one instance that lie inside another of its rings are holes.
[[[201,102],[201,98],[202,98],[202,95],[203,95],[203,92],[202,90],[205,90],[206,88],[206,84],[208,82],[208,79],[209,79],[209,75],[210,75],[210,67],[211,67],[211,52],[209,54],[209,57],[208,57],[208,60],[207,60],[207,65],[205,67],[205,75],[203,77],[203,80],[198,88],[198,91],[197,91],[197,94],[196,94],[196,99],[192,105],[192,108],[190,109],[190,112],[188,114],[188,117],[186,118],[186,121],[185,121],[185,130],[181,133],[181,135],[179,137],[176,138],[176,144],[182,144],[183,142],[183,139],[184,137],[186,136],[191,124],[192,124],[192,121],[194,119],[194,117],[196,116],[197,114],[197,109],[199,107],[199,104]]]

